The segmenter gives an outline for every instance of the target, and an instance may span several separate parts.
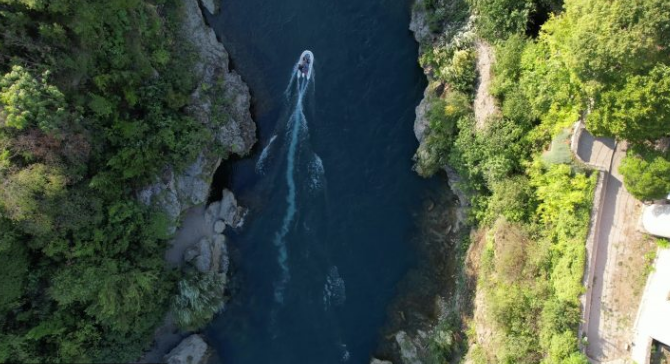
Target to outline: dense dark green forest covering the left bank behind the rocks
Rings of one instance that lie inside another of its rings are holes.
[[[0,0],[0,362],[132,361],[171,302],[187,329],[220,307],[135,197],[210,133],[181,6]]]

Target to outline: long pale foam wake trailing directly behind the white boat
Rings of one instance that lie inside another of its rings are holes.
[[[293,78],[293,77],[292,77]],[[293,114],[289,118],[288,127],[290,129],[289,147],[286,154],[286,184],[288,185],[288,193],[286,195],[286,214],[282,221],[281,229],[275,234],[274,244],[279,249],[279,256],[277,258],[279,266],[282,270],[282,276],[279,282],[275,285],[275,301],[278,303],[284,302],[284,290],[291,279],[291,274],[288,266],[288,249],[286,246],[285,237],[289,232],[289,228],[293,218],[295,217],[296,207],[296,185],[295,185],[295,156],[298,148],[298,137],[300,125],[305,123],[305,114],[303,113],[302,99],[305,95],[305,90],[309,83],[298,82],[298,97],[296,100],[296,107]]]

